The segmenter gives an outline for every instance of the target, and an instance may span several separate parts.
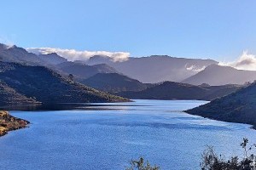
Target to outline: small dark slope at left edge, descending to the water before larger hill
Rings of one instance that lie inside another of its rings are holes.
[[[14,88],[10,88],[5,82],[0,81],[0,105],[32,105],[38,104],[35,99],[27,98],[19,94]]]

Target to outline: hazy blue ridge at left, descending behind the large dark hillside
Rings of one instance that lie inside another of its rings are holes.
[[[32,54],[24,48],[7,46],[0,43],[0,61],[14,62],[22,65],[43,65],[63,75],[73,74],[74,77],[88,78],[97,73],[117,72],[109,65],[85,65],[82,62],[67,61],[58,54]]]

